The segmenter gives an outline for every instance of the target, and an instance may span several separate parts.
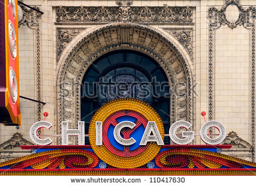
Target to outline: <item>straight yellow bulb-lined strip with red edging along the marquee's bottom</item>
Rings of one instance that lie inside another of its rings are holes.
[[[2,169],[1,169],[2,170]],[[256,175],[254,169],[8,169],[1,176],[183,176]]]

